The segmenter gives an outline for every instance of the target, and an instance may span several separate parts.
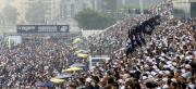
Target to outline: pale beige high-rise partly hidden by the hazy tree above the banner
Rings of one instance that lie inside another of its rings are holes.
[[[17,17],[17,23],[20,22],[26,22],[26,11],[28,8],[32,7],[33,3],[37,2],[38,0],[16,0],[15,1],[15,8],[17,12],[20,13],[20,16]],[[41,0],[44,2],[44,7],[46,9],[46,15],[45,20],[52,22],[58,18],[57,13],[59,11],[59,1],[60,0]]]

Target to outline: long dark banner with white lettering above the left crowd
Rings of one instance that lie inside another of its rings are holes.
[[[17,34],[70,33],[69,25],[17,25]]]

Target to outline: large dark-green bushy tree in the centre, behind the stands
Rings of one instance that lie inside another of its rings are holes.
[[[90,9],[78,12],[74,18],[84,29],[103,29],[117,22],[111,15]]]

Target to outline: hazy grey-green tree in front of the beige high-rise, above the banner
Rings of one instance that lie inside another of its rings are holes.
[[[30,20],[44,20],[45,14],[45,4],[41,0],[38,0],[37,2],[32,2],[29,4],[25,18],[27,22],[29,22]]]

